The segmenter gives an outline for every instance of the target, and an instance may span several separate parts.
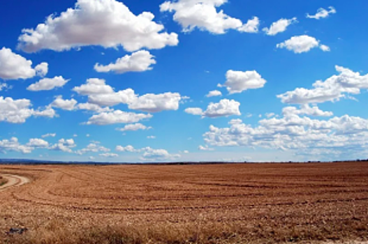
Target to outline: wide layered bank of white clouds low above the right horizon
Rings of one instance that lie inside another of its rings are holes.
[[[355,116],[334,117],[329,120],[300,116],[289,111],[282,118],[263,119],[257,127],[245,123],[231,123],[228,128],[211,125],[204,135],[212,146],[246,146],[343,153],[362,151],[368,146],[368,120]]]

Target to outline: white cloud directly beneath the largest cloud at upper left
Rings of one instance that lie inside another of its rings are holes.
[[[148,51],[142,50],[131,55],[126,55],[121,59],[117,59],[115,63],[110,63],[107,66],[96,63],[94,69],[97,72],[114,72],[118,74],[127,72],[143,72],[146,70],[152,70],[152,65],[155,63],[156,61],[154,60],[154,56]]]

